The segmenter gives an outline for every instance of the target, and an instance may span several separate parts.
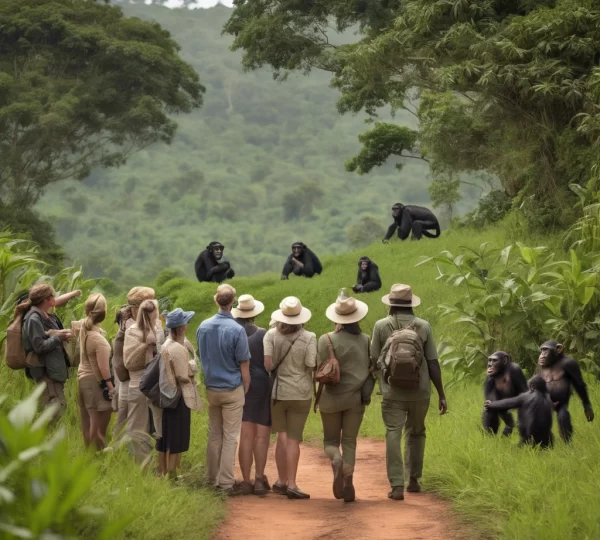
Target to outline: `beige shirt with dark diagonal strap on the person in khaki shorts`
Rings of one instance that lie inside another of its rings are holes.
[[[283,359],[292,341],[294,344],[287,357]],[[271,328],[265,334],[263,345],[265,356],[271,356],[273,366],[277,366],[273,399],[285,401],[312,399],[313,371],[317,365],[317,336],[304,328],[285,336],[276,328]]]

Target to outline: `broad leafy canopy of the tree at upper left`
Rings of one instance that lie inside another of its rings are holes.
[[[93,0],[0,5],[0,203],[170,143],[169,115],[202,104],[198,74],[156,23]]]

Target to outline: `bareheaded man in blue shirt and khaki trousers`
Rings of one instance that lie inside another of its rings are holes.
[[[206,473],[211,484],[231,495],[240,490],[233,470],[250,386],[248,337],[231,314],[235,298],[231,285],[219,285],[214,298],[219,312],[203,321],[196,332],[208,400]]]

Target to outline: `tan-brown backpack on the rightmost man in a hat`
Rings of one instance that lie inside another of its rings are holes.
[[[387,366],[383,380],[395,388],[417,390],[421,382],[423,340],[416,332],[414,320],[404,328],[395,330],[387,340],[385,357]]]

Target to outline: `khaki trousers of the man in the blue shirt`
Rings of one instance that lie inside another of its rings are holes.
[[[206,474],[211,484],[224,489],[233,487],[237,438],[242,427],[242,413],[246,401],[244,387],[216,392],[206,389],[208,401],[208,443],[206,447]]]

